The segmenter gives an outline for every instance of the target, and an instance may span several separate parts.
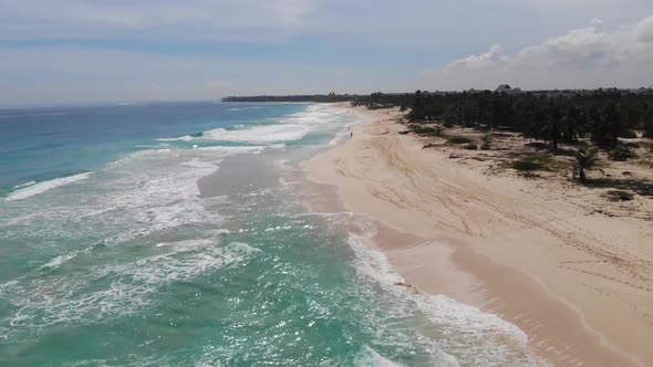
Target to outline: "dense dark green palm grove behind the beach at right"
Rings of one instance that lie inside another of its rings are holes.
[[[414,129],[439,135],[442,126],[474,127],[520,133],[525,138],[546,141],[552,153],[559,144],[577,145],[577,177],[587,182],[585,169],[605,149],[622,160],[633,155],[620,137],[653,138],[653,93],[620,90],[583,92],[542,91],[515,93],[467,91],[462,93],[373,93],[356,96],[352,104],[371,108],[400,106]],[[433,124],[433,125],[432,125]],[[428,126],[433,127],[428,127]],[[591,143],[593,147],[587,146]],[[595,147],[595,148],[594,148]]]

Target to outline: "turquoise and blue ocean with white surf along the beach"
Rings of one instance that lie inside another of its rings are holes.
[[[332,105],[0,111],[0,366],[527,366],[516,326],[398,286],[312,212]],[[352,231],[351,228],[356,228]]]

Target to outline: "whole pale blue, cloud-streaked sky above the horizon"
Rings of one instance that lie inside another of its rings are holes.
[[[0,0],[0,105],[653,85],[651,0]]]

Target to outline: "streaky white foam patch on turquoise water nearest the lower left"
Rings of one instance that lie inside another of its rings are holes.
[[[0,331],[0,339],[23,327],[105,322],[133,314],[156,302],[152,294],[160,287],[235,266],[260,252],[247,243],[219,245],[210,239],[165,242],[157,249],[160,253],[127,263],[108,263],[58,277],[33,273],[0,284],[0,297],[17,308],[0,319],[0,325],[12,326]],[[65,262],[65,258],[53,259],[51,265]],[[90,287],[107,275],[114,277],[110,284]]]

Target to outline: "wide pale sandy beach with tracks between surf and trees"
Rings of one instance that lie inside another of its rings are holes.
[[[302,167],[382,223],[367,245],[411,286],[516,324],[554,366],[653,365],[651,222],[463,167],[398,135],[396,112],[352,109],[367,123]]]

